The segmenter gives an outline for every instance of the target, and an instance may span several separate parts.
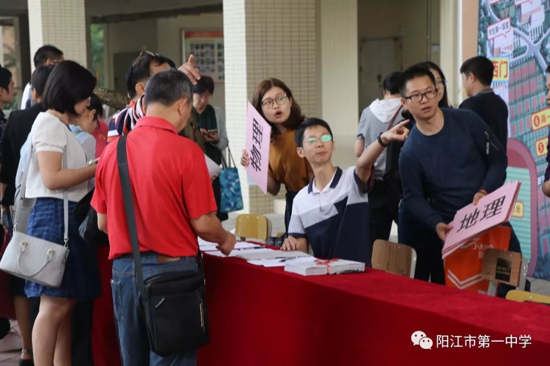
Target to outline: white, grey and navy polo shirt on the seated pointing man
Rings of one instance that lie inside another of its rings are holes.
[[[322,191],[315,179],[294,198],[289,235],[306,238],[317,258],[340,258],[371,266],[368,187],[361,189],[355,167],[336,168]]]

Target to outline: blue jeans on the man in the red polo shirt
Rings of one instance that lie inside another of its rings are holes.
[[[179,261],[158,263],[157,254],[141,253],[143,279],[175,271],[197,271],[195,257],[182,257]],[[194,366],[197,350],[162,357],[149,349],[147,329],[142,305],[138,300],[140,288],[135,278],[134,260],[129,256],[113,262],[114,317],[117,320],[118,342],[123,364],[126,366]]]

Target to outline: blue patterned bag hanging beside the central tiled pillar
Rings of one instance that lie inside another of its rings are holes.
[[[241,192],[239,171],[233,160],[231,150],[227,147],[229,166],[222,157],[223,169],[219,171],[219,186],[222,196],[219,200],[219,212],[233,212],[243,210],[243,193]],[[231,163],[233,162],[233,167]]]

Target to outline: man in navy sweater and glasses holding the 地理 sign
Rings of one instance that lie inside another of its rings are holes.
[[[441,250],[451,229],[448,223],[456,211],[477,204],[504,183],[508,159],[495,134],[474,112],[437,106],[430,71],[410,67],[401,75],[399,93],[416,121],[399,156],[401,205],[437,234],[415,248],[415,277],[444,284]],[[510,248],[514,249],[519,251]]]

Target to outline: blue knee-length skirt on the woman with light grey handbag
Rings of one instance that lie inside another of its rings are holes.
[[[26,281],[28,297],[47,295],[76,300],[94,300],[100,295],[100,277],[94,245],[79,235],[73,211],[75,202],[69,201],[69,256],[61,286],[53,288]],[[38,198],[29,216],[27,234],[63,245],[63,200]]]

